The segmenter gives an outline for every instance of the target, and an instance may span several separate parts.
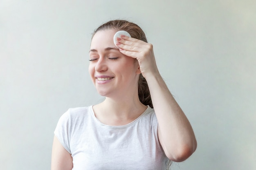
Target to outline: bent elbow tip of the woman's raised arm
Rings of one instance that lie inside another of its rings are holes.
[[[176,148],[174,152],[167,153],[166,156],[171,161],[182,162],[188,159],[193,154],[193,152],[195,152],[196,148],[197,148],[197,143],[195,141],[195,144],[193,144],[192,146],[188,144],[184,144]]]

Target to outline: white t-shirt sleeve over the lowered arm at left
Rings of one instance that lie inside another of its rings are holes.
[[[61,142],[62,146],[71,154],[70,151],[70,139],[69,139],[69,128],[70,128],[70,110],[67,110],[60,119],[58,120],[57,126],[54,130],[54,135]]]

